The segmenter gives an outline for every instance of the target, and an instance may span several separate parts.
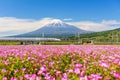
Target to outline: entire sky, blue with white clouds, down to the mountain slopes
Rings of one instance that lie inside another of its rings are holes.
[[[55,19],[88,31],[120,28],[120,0],[0,0],[0,36],[30,32]]]

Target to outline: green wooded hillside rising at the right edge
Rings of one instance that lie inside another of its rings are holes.
[[[74,38],[74,37],[73,37]],[[120,41],[120,28],[114,29],[114,30],[108,30],[108,31],[102,31],[102,32],[93,32],[89,34],[81,34],[80,39],[92,39],[95,41],[101,41],[101,42],[115,42]]]

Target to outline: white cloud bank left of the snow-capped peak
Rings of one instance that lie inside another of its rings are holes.
[[[0,17],[0,36],[23,34],[48,24],[52,18],[40,20],[17,19],[15,17]]]

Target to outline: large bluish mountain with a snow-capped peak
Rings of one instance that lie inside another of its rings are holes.
[[[50,21],[48,24],[39,28],[35,31],[21,34],[18,36],[42,36],[44,33],[45,36],[63,36],[63,35],[74,35],[74,34],[84,34],[89,33],[89,31],[85,31],[77,28],[76,26],[66,24],[59,19],[54,19]]]

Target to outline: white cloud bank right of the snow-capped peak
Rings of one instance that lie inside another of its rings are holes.
[[[112,30],[120,27],[120,22],[116,20],[109,20],[102,22],[91,22],[91,21],[81,21],[81,22],[68,22],[68,24],[72,24],[77,26],[80,29],[88,30],[88,31],[105,31]]]

